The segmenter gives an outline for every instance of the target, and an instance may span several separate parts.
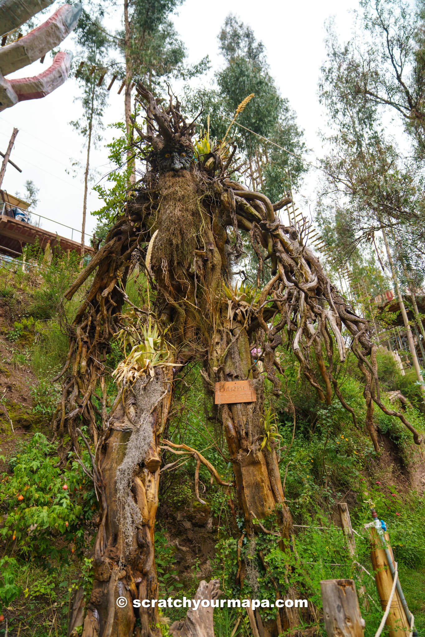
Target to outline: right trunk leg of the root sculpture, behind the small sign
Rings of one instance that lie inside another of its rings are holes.
[[[256,402],[222,404],[219,406],[219,415],[233,465],[238,503],[243,512],[247,534],[252,536],[256,529],[261,529],[257,520],[267,519],[271,513],[275,513],[282,537],[280,548],[287,551],[293,540],[292,516],[285,504],[273,442],[271,451],[266,447],[260,449],[265,435],[261,420],[264,407],[264,376],[257,372],[252,373],[251,347],[247,332],[241,325],[215,333],[210,347],[210,374],[215,376],[216,382],[249,380],[256,390]],[[286,582],[289,587],[286,592],[290,596],[292,589],[287,578]],[[276,626],[270,629],[260,627],[261,618],[257,615],[256,624],[259,634],[277,635],[282,630],[297,626],[299,616],[294,608],[285,608],[277,613]]]

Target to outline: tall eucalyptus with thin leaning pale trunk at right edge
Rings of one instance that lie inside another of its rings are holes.
[[[403,156],[396,142],[387,139],[379,105],[365,101],[357,90],[356,68],[353,46],[341,47],[329,32],[328,60],[320,84],[331,128],[326,140],[330,150],[322,160],[326,175],[322,197],[333,202],[347,229],[343,238],[347,257],[364,241],[376,245],[377,236],[382,235],[417,379],[423,383],[394,259],[397,246],[401,264],[407,259],[412,262],[408,254],[417,262],[422,260],[425,180],[421,158]],[[412,244],[412,234],[417,243]]]

